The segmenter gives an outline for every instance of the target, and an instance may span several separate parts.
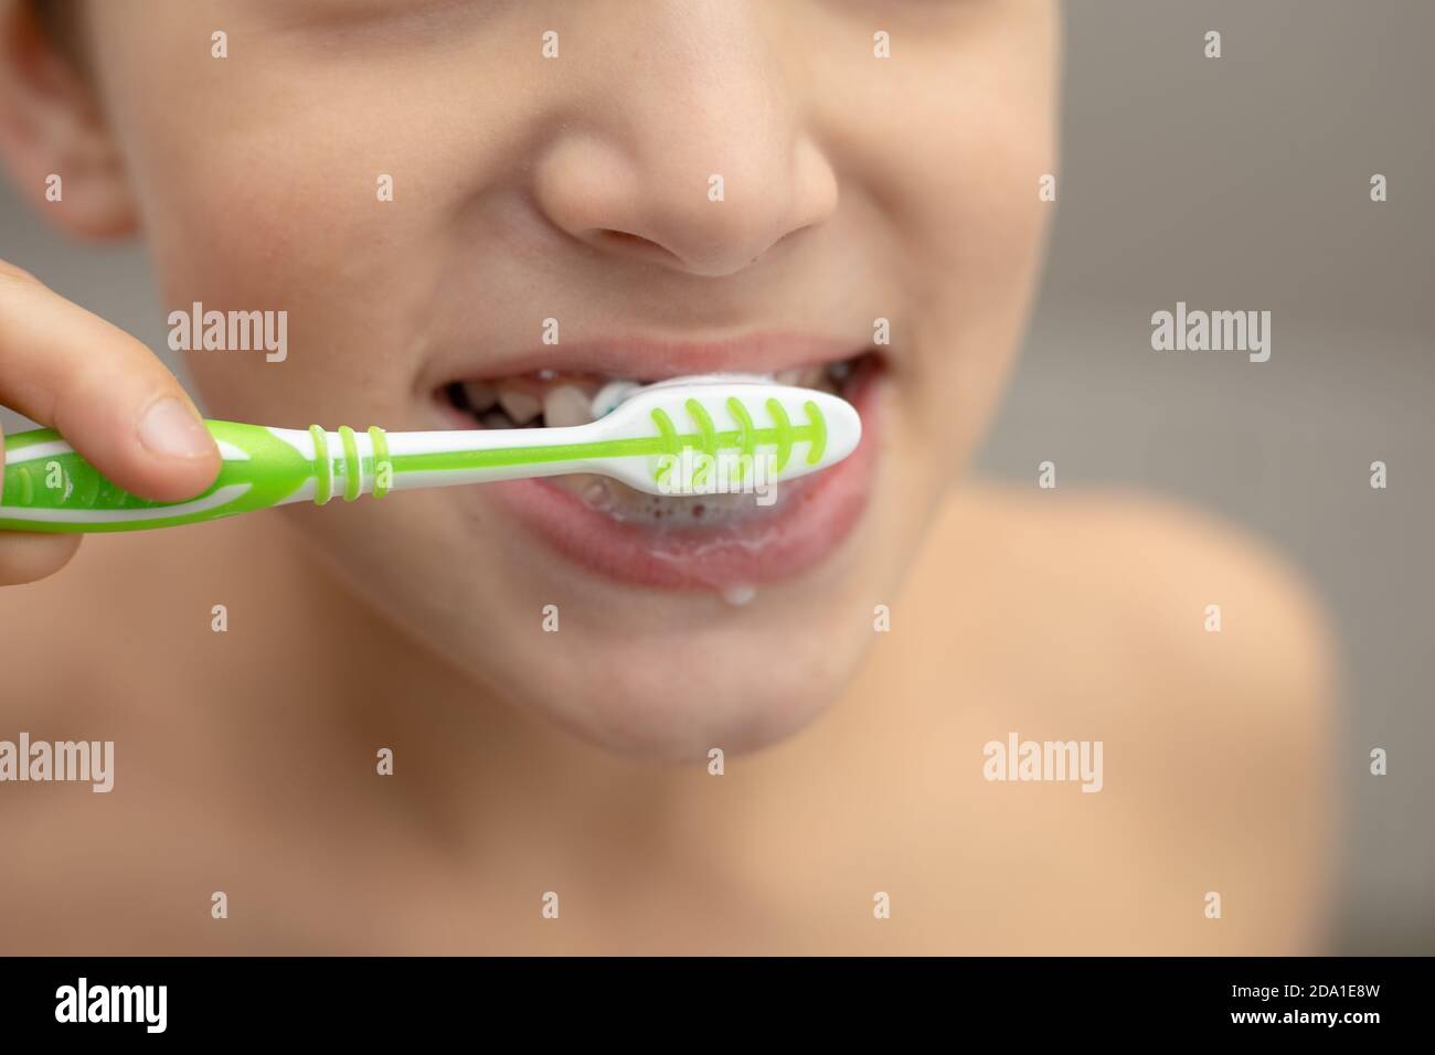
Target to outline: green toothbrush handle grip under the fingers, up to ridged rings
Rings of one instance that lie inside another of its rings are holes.
[[[264,425],[207,421],[222,468],[202,494],[182,502],[152,502],[129,494],[80,458],[55,429],[6,436],[0,530],[93,533],[197,524],[251,510],[336,494],[382,497],[387,446],[382,429],[369,429],[364,456],[349,428],[326,433]],[[336,449],[337,448],[337,449]],[[314,455],[319,456],[314,456]],[[377,469],[377,472],[376,472]]]

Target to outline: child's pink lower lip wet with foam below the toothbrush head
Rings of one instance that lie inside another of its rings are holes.
[[[574,564],[611,580],[672,590],[736,591],[792,578],[851,534],[877,468],[880,373],[850,393],[862,418],[857,449],[829,469],[786,485],[781,508],[722,528],[669,530],[617,521],[542,479],[478,488],[484,498]]]

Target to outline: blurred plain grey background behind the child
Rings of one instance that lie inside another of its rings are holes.
[[[1337,949],[1432,953],[1435,0],[1071,0],[1066,37],[1050,263],[982,466],[1195,502],[1306,570],[1347,679]],[[164,349],[139,248],[0,188],[0,257]],[[1152,352],[1178,300],[1271,311],[1270,362]]]

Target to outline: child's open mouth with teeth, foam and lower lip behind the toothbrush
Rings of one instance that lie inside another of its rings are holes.
[[[674,373],[634,379],[537,369],[453,380],[435,392],[435,402],[452,428],[565,428],[597,421],[634,389]],[[871,484],[871,416],[881,375],[881,357],[871,349],[759,375],[838,395],[864,419],[862,441],[845,461],[773,485],[766,495],[651,495],[608,477],[573,474],[476,488],[482,495],[475,501],[497,498],[551,548],[608,577],[740,593],[811,566],[858,520]]]

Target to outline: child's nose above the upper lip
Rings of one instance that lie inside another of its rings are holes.
[[[614,258],[722,277],[831,217],[837,175],[755,7],[631,7],[643,50],[573,79],[575,119],[537,162],[548,220]]]

